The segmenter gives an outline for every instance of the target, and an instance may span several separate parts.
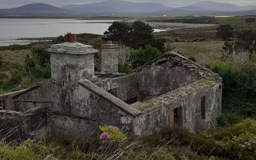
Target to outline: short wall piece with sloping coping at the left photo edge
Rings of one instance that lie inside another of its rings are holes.
[[[12,101],[12,97],[21,92],[24,92],[24,91],[25,90],[18,90],[15,92],[1,94],[0,95],[0,108],[3,110],[15,110],[14,101]]]

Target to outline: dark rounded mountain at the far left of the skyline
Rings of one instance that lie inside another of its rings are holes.
[[[74,11],[51,6],[49,4],[34,3],[25,6],[0,9],[0,14],[74,14]]]

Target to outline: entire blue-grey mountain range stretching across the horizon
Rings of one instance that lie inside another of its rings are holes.
[[[250,12],[252,10],[252,12]],[[0,14],[112,14],[125,13],[132,15],[152,14],[254,14],[256,6],[237,6],[229,3],[218,3],[212,1],[198,2],[190,6],[170,8],[160,3],[139,3],[124,0],[106,0],[98,3],[67,5],[62,8],[49,4],[35,3],[25,6],[0,9]],[[241,11],[241,12],[240,12]],[[230,13],[228,13],[230,12]]]

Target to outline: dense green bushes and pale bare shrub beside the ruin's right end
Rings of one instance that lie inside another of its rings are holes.
[[[223,78],[220,125],[256,118],[256,33],[242,30],[234,42],[226,42],[222,61],[210,69]]]

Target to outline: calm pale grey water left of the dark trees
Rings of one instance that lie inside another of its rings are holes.
[[[0,19],[0,46],[29,44],[17,38],[56,37],[71,33],[103,34],[114,20]],[[104,23],[106,22],[106,23]]]

